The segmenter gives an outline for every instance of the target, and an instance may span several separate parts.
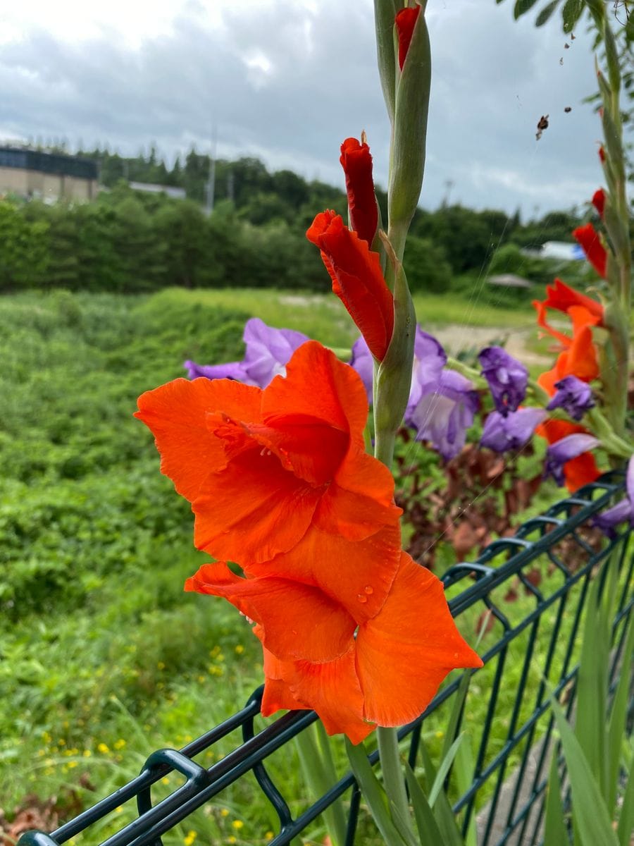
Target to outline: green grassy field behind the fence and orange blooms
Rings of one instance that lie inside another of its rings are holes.
[[[534,325],[532,310],[476,296],[416,299],[429,328]],[[30,794],[57,796],[61,816],[74,816],[133,777],[151,750],[183,745],[260,684],[243,618],[182,591],[206,558],[192,547],[188,504],[132,417],[139,393],[183,376],[183,360],[239,359],[249,316],[337,347],[357,334],[331,295],[0,299],[0,806],[9,817]],[[301,804],[297,761],[288,772]],[[275,817],[257,795],[244,779],[165,842],[191,846],[194,831],[205,843],[265,843]],[[121,821],[132,812],[123,808]]]

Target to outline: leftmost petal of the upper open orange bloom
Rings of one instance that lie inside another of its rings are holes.
[[[222,443],[208,431],[210,409],[260,419],[259,387],[229,379],[175,379],[139,397],[135,417],[152,431],[161,453],[161,473],[191,502],[212,470],[226,466]]]

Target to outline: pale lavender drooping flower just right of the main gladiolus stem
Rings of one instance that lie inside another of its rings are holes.
[[[445,370],[435,384],[424,387],[417,404],[408,406],[405,420],[416,429],[417,441],[431,441],[445,461],[450,461],[465,445],[478,404],[472,383],[456,371]]]

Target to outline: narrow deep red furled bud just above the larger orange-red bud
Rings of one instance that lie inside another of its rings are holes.
[[[372,244],[379,222],[379,212],[374,196],[372,157],[364,132],[361,134],[361,143],[356,138],[347,138],[343,142],[339,161],[346,174],[350,222],[358,237]]]

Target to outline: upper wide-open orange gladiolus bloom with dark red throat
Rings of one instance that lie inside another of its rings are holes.
[[[364,451],[367,415],[357,373],[309,341],[264,390],[176,379],[139,397],[135,416],[192,503],[195,545],[258,563],[309,529],[363,541],[395,524],[391,473]]]

